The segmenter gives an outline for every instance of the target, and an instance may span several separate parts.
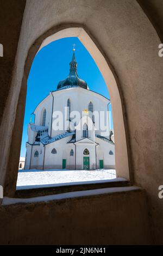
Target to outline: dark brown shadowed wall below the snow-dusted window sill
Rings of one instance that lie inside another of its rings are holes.
[[[152,243],[143,191],[1,206],[0,217],[1,245]]]

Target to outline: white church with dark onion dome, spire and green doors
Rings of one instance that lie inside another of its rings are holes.
[[[78,77],[74,51],[68,77],[33,112],[24,169],[115,169],[110,100]]]

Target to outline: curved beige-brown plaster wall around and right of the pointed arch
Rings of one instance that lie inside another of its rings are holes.
[[[157,243],[163,243],[163,200],[158,199],[162,175],[162,82],[163,61],[158,57],[158,38],[147,16],[133,0],[27,1],[20,36],[12,89],[5,115],[11,126],[3,124],[1,159],[5,170],[14,125],[15,99],[23,76],[28,50],[49,28],[60,23],[81,23],[94,36],[114,67],[124,98],[131,163],[135,182],[146,188],[154,221]],[[10,113],[9,113],[10,112]],[[12,118],[13,117],[13,118]],[[4,180],[4,173],[1,173]]]

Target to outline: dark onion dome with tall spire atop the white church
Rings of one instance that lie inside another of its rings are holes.
[[[78,63],[76,62],[76,57],[73,49],[72,61],[70,62],[70,74],[65,80],[62,80],[58,83],[57,90],[63,87],[82,87],[84,89],[87,89],[87,83],[78,77],[77,65]]]

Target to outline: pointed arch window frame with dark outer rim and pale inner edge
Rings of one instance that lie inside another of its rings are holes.
[[[89,33],[89,30],[85,25],[80,24],[61,24],[59,26],[54,26],[51,29],[47,30],[42,35],[39,35],[38,38],[35,39],[35,43],[29,48],[27,53],[27,58],[24,60],[24,71],[22,75],[21,81],[21,89],[18,100],[15,99],[15,104],[18,106],[16,110],[15,116],[15,124],[14,124],[14,133],[12,135],[11,147],[10,147],[10,155],[15,151],[15,144],[17,144],[17,125],[19,125],[22,129],[23,127],[23,116],[24,116],[24,108],[25,108],[25,97],[26,96],[26,87],[27,87],[27,78],[29,75],[30,67],[32,66],[33,59],[38,51],[41,50],[42,47],[50,44],[52,41],[59,40],[67,37],[77,37],[82,44],[86,47],[87,51],[90,53],[91,57],[95,61],[99,71],[104,78],[106,86],[108,87],[109,94],[112,102],[112,117],[114,122],[114,133],[116,137],[116,148],[115,148],[115,162],[116,162],[116,173],[117,176],[123,176],[124,178],[130,180],[133,178],[133,175],[130,175],[129,168],[129,159],[128,154],[130,154],[130,147],[127,140],[129,139],[128,135],[128,125],[126,116],[126,108],[123,103],[123,95],[121,92],[121,84],[118,80],[118,77],[115,73],[115,67],[111,66],[108,55],[105,54],[104,49],[99,44],[99,41],[96,40],[95,36]],[[14,114],[14,109],[13,109]],[[20,118],[20,116],[22,118]],[[18,120],[18,123],[17,121]],[[20,134],[18,134],[18,140],[21,142],[22,138],[22,130],[20,129]],[[15,136],[14,136],[15,135]],[[14,138],[15,137],[15,138]],[[21,143],[17,146],[17,162],[19,160],[20,155],[20,146]],[[12,168],[12,160],[8,161],[6,169]],[[7,172],[8,173],[8,172]],[[17,168],[14,168],[12,172],[12,177],[10,179],[16,179]],[[9,181],[8,175],[5,175],[5,184],[11,183]],[[8,196],[13,196],[15,194],[15,186],[10,185],[10,190],[8,187],[4,186],[4,193]]]

